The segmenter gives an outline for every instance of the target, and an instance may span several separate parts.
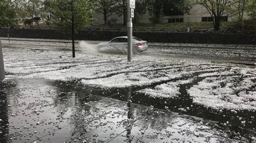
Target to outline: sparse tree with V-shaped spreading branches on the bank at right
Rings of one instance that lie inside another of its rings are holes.
[[[228,3],[230,3],[228,0],[199,0],[197,4],[207,9],[211,17],[213,17],[214,30],[219,30],[221,18],[224,16],[224,11]]]

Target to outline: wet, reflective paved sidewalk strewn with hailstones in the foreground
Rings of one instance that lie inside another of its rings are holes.
[[[136,95],[33,78],[0,85],[1,142],[217,142],[255,135],[248,130],[241,137],[241,130],[217,121],[131,103]]]

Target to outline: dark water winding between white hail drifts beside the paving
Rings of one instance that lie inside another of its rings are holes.
[[[131,100],[132,103],[136,103],[136,104],[153,106],[154,108],[158,108],[158,109],[164,109],[164,110],[184,113],[186,115],[216,120],[216,121],[220,121],[220,123],[222,123],[224,126],[228,126],[230,128],[232,127],[234,128],[242,127],[242,128],[251,128],[251,129],[256,128],[256,122],[254,120],[255,118],[254,110],[250,111],[250,110],[222,109],[220,111],[218,109],[214,109],[209,106],[204,106],[204,105],[193,102],[193,98],[188,94],[187,90],[193,87],[193,85],[197,85],[199,82],[203,81],[206,77],[208,77],[208,76],[199,76],[199,75],[203,75],[204,73],[209,74],[211,72],[209,71],[196,72],[192,75],[188,75],[182,78],[176,78],[169,81],[161,81],[157,83],[152,83],[150,85],[136,86],[131,88],[98,88],[97,92],[94,92],[94,94],[104,96],[104,97],[110,97],[110,98],[114,98],[114,99],[118,99],[120,101],[126,101],[126,102]],[[237,74],[224,75],[223,77],[236,76],[236,75]],[[214,75],[211,77],[221,77],[221,76]],[[137,92],[145,88],[154,88],[159,84],[175,82],[178,80],[185,81],[189,78],[193,79],[192,82],[178,85],[179,94],[176,97],[171,97],[171,98],[151,97],[149,95]],[[239,85],[239,83],[240,82],[238,81],[237,85]],[[220,87],[225,86],[225,84],[226,83],[221,83]],[[250,89],[246,89],[246,90],[251,91],[253,90],[253,87],[250,87]],[[238,92],[240,91],[236,91],[236,92],[238,94]],[[129,95],[131,95],[130,98],[128,98]],[[228,121],[228,125],[226,124],[227,121]]]

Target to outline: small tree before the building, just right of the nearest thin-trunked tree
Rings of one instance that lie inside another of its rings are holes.
[[[97,0],[98,6],[96,12],[102,13],[104,16],[104,24],[107,24],[108,17],[114,11],[114,1],[113,0]]]

